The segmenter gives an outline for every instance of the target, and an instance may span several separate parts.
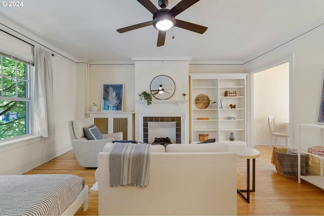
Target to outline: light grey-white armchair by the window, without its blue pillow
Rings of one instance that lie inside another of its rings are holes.
[[[103,134],[103,140],[87,140],[83,128],[92,124],[92,118],[68,121],[73,152],[82,167],[98,167],[98,154],[103,151],[103,147],[112,140],[123,140],[123,132]]]

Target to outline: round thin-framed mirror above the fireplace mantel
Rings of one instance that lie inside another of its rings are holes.
[[[170,76],[159,75],[151,81],[150,90],[154,98],[167,100],[175,93],[176,84]]]

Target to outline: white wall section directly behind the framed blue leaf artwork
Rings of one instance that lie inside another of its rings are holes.
[[[124,111],[135,111],[134,65],[91,65],[89,73],[89,110],[93,103],[101,111],[102,87],[104,83],[124,84]]]

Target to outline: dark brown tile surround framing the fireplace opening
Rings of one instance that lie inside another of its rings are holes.
[[[176,143],[181,143],[181,117],[180,116],[143,116],[143,142],[149,143],[148,122],[175,122]]]

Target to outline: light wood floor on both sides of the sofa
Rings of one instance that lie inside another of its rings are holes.
[[[324,190],[302,180],[280,176],[270,163],[271,149],[268,146],[256,146],[261,156],[256,159],[256,192],[251,193],[248,204],[237,195],[238,215],[324,215]],[[246,188],[246,160],[239,159],[239,188]],[[95,169],[82,168],[75,160],[74,154],[68,152],[26,174],[73,174],[82,177],[89,185],[89,208],[77,215],[98,214],[98,191],[90,188],[96,182]]]

